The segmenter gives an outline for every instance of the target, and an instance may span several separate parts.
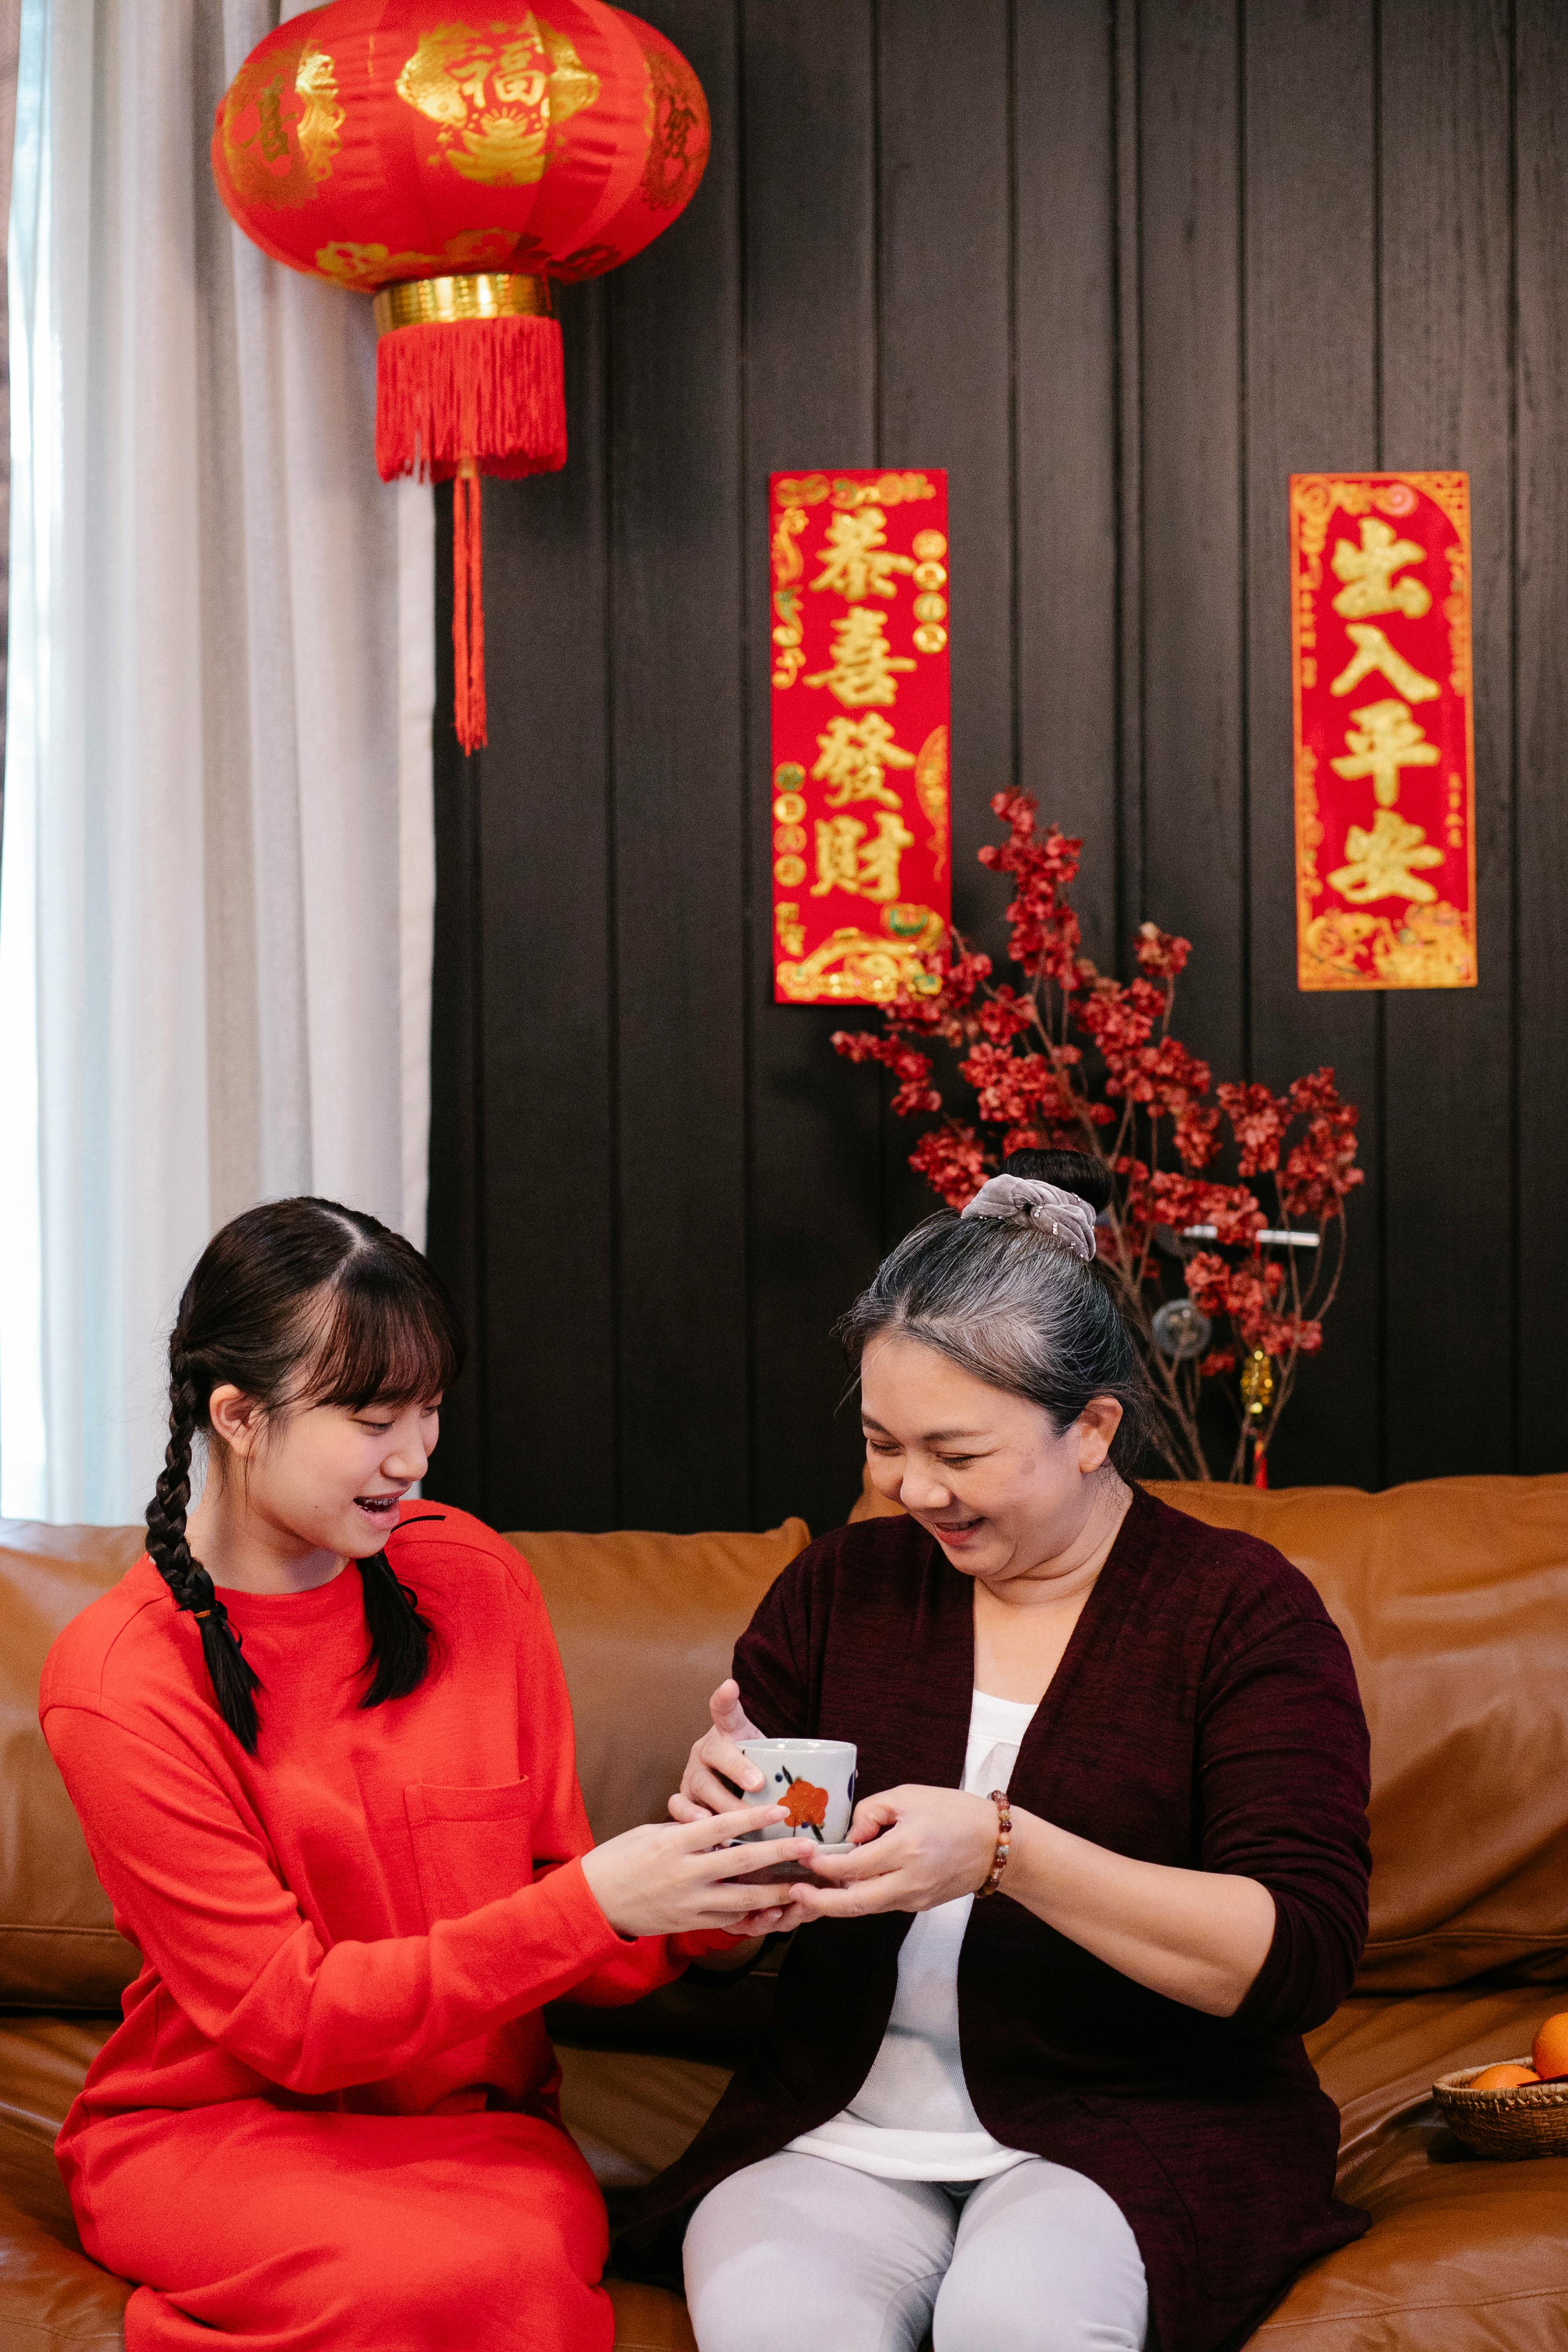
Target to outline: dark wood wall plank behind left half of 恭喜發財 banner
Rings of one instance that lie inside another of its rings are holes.
[[[825,1529],[860,1484],[832,1324],[877,1265],[882,1089],[830,1044],[875,1014],[773,1002],[766,485],[877,456],[870,0],[745,0],[743,96],[752,1510]]]

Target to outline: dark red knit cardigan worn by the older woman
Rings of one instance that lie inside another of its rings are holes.
[[[823,1536],[736,1646],[752,1722],[858,1740],[865,1792],[957,1788],[971,1590],[914,1519]],[[1307,1578],[1272,1545],[1138,1491],[1011,1795],[1114,1853],[1260,1879],[1274,1943],[1237,2016],[1208,2018],[1004,1893],[976,1905],[964,1936],[959,2039],[985,2129],[1088,2173],[1131,2220],[1161,2352],[1244,2340],[1302,2263],[1366,2230],[1335,2201],[1340,2117],[1300,2042],[1361,1957],[1366,1792],[1356,1677]],[[849,2105],[882,2044],[907,1926],[889,1912],[802,1929],[771,2046],[635,2204],[644,2265],[670,2267],[715,2183]]]

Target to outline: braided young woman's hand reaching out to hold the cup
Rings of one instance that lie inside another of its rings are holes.
[[[792,1903],[780,1898],[780,1889],[748,1886],[743,1872],[802,1863],[811,1839],[724,1842],[788,1818],[783,1804],[731,1806],[726,1813],[698,1813],[682,1828],[651,1823],[623,1830],[583,1856],[583,1877],[618,1936],[691,1936],[698,1929],[771,1936]]]

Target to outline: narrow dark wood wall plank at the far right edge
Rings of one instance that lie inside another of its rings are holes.
[[[1519,0],[1519,835],[1516,835],[1516,1127],[1519,1225],[1516,1470],[1568,1461],[1554,1367],[1568,1312],[1568,14]],[[1486,955],[1486,938],[1481,938]],[[1495,1169],[1500,1138],[1467,1148]],[[1469,1381],[1465,1381],[1469,1385]],[[1495,1463],[1488,1468],[1505,1468]]]

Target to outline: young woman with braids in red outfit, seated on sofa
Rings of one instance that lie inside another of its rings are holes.
[[[45,1736],[141,1952],[59,2140],[82,2244],[139,2281],[127,2352],[609,2352],[541,2006],[635,2002],[780,1917],[724,1884],[757,1813],[592,1844],[527,1564],[404,1501],[458,1362],[371,1216],[237,1216],[169,1338],[148,1552],[49,1653]]]

